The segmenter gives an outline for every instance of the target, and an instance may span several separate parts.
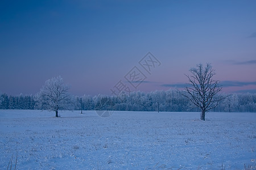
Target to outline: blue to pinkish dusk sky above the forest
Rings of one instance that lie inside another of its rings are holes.
[[[187,83],[184,74],[199,63],[212,64],[224,92],[256,92],[255,8],[256,1],[3,0],[0,92],[34,95],[59,75],[79,96],[168,90]]]

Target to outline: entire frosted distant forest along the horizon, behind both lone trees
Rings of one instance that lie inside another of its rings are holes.
[[[225,94],[223,94],[225,95]],[[45,109],[36,105],[32,95],[0,95],[0,109]],[[118,96],[72,96],[70,110],[113,110],[152,112],[197,112],[187,98],[175,90],[121,93]],[[256,112],[256,94],[232,94],[222,100],[211,112]]]

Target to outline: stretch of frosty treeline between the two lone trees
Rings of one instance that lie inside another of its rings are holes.
[[[81,105],[82,99],[82,105]],[[76,109],[83,110],[114,110],[114,111],[191,111],[191,104],[176,91],[131,92],[130,95],[118,96],[82,96],[77,97]]]

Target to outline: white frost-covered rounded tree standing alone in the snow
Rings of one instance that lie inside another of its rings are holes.
[[[38,107],[55,111],[55,116],[59,117],[59,109],[69,109],[72,105],[68,90],[69,87],[67,84],[64,84],[61,76],[47,80],[36,95]]]

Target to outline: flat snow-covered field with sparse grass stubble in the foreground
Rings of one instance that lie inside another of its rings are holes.
[[[256,113],[0,110],[0,169],[244,169]],[[15,161],[13,161],[15,162]]]

